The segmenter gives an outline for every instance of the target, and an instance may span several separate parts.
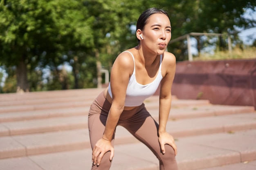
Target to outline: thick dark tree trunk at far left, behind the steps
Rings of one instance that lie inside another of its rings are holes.
[[[27,65],[25,63],[25,57],[22,56],[20,62],[17,65],[17,93],[28,92],[29,84],[27,81]]]

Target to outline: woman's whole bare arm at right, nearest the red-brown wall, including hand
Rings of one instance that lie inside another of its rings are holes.
[[[166,124],[171,109],[171,88],[175,75],[176,59],[171,53],[165,53],[164,57],[166,75],[162,79],[159,95],[159,142],[163,153],[165,152],[164,144],[169,144],[175,150],[175,154],[177,154],[173,137],[166,132]]]

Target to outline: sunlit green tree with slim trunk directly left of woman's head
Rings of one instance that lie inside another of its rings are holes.
[[[112,63],[121,51],[137,45],[132,27],[142,11],[154,7],[156,1],[141,0],[85,0],[89,13],[94,17],[92,24],[94,49],[97,60],[97,83],[101,87],[101,68],[111,69]]]

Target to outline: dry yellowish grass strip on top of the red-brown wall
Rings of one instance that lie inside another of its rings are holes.
[[[256,59],[256,47],[250,46],[240,49],[238,47],[229,51],[215,51],[214,54],[201,53],[199,57],[193,57],[193,60],[232,60],[232,59]]]

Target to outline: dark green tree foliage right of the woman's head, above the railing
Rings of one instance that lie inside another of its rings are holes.
[[[172,0],[160,3],[170,13],[172,24],[172,39],[191,32],[200,33],[229,33],[238,38],[234,26],[250,28],[256,26],[256,20],[243,18],[245,9],[255,11],[256,1],[251,0]],[[198,51],[203,47],[202,39],[198,41]],[[220,48],[225,48],[225,41],[220,38]],[[184,60],[186,46],[177,42],[169,46],[178,60]]]

